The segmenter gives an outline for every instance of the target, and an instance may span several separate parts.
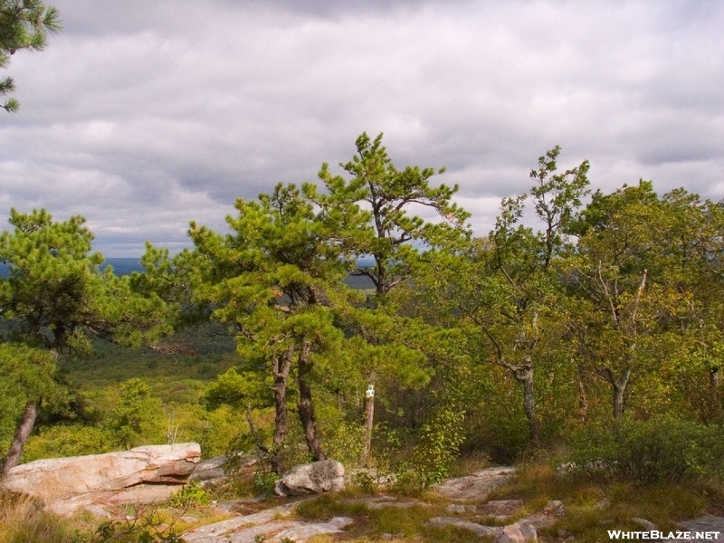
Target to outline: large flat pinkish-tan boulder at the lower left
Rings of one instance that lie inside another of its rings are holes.
[[[3,485],[69,516],[89,506],[165,501],[181,488],[200,459],[198,443],[148,445],[29,462],[10,470]]]

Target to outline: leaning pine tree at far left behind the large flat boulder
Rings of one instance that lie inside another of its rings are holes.
[[[138,295],[128,278],[115,276],[110,268],[100,271],[103,255],[91,252],[93,234],[83,217],[56,222],[44,209],[30,214],[11,209],[9,222],[13,231],[0,234],[0,261],[10,272],[0,279],[4,341],[43,349],[57,360],[90,350],[94,337],[138,346],[169,331],[163,300]],[[43,367],[52,369],[38,364],[38,371]],[[4,472],[19,462],[33,429],[43,401],[43,387],[38,390],[27,395]]]

